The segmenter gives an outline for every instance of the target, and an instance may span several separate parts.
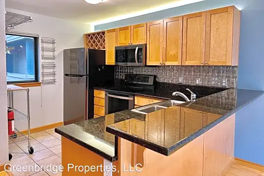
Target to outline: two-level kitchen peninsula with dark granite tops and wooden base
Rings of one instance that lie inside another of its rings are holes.
[[[220,176],[234,157],[235,113],[263,93],[226,89],[148,114],[124,110],[56,128],[62,165],[112,165],[119,171],[113,176]],[[125,172],[136,164],[141,172]],[[84,172],[63,172],[72,175]]]

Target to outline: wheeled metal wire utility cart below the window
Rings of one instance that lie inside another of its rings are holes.
[[[14,108],[14,93],[16,92],[26,92],[27,99],[27,114],[22,113]],[[23,134],[15,128],[15,133],[8,137],[9,147],[28,142],[28,152],[29,154],[34,153],[34,149],[30,144],[30,115],[29,115],[29,88],[22,88],[14,85],[7,85],[7,96],[9,101],[9,107],[14,110],[14,118],[16,121],[27,120],[27,134]],[[9,154],[9,160],[12,159],[12,154]]]

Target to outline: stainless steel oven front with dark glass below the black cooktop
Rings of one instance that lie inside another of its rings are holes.
[[[134,96],[106,91],[105,95],[105,114],[111,114],[122,110],[132,110],[134,108]]]

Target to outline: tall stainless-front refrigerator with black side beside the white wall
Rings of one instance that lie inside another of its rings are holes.
[[[114,66],[106,66],[106,51],[64,50],[64,124],[93,118],[93,88],[114,84]]]

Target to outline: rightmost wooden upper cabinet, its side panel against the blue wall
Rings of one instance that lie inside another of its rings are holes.
[[[240,11],[235,6],[206,12],[205,64],[238,65]]]

